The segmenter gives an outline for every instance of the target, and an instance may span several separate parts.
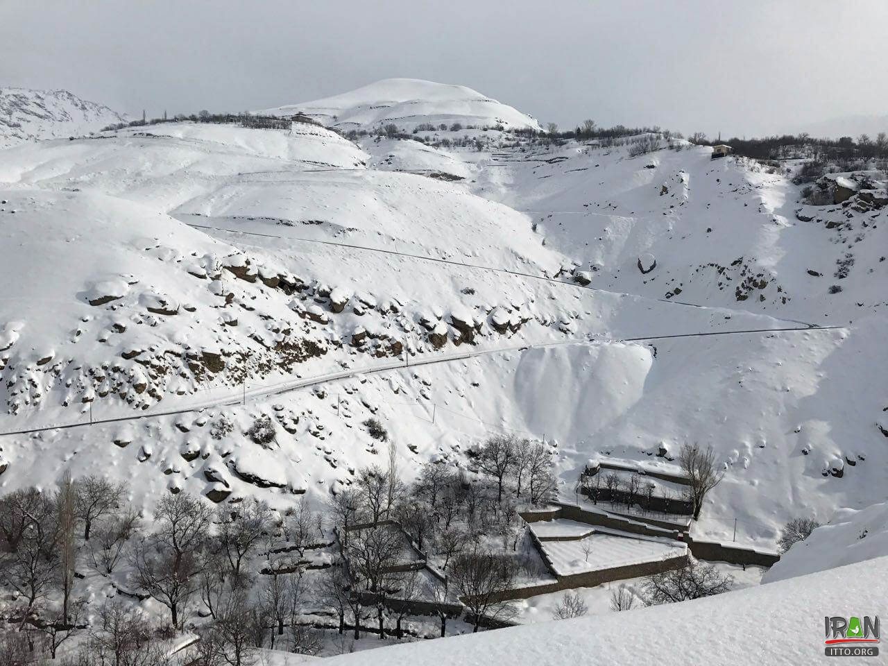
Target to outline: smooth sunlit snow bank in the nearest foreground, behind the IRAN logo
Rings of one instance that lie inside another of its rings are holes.
[[[823,658],[823,616],[884,615],[888,557],[681,604],[393,646],[336,664],[792,664]]]

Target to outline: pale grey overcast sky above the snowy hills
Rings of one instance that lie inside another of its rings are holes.
[[[886,0],[0,0],[0,85],[160,115],[407,76],[562,127],[749,136],[888,114],[886,35]]]

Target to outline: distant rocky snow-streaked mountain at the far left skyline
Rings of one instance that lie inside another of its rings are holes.
[[[0,148],[32,139],[82,136],[123,116],[68,91],[0,87]]]

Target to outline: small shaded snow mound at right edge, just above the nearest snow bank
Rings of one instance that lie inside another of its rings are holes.
[[[773,583],[861,562],[888,553],[888,503],[843,509],[792,548],[762,578]]]

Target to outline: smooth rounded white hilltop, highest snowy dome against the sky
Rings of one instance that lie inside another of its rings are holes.
[[[404,78],[384,79],[333,97],[258,113],[303,114],[343,130],[370,130],[388,123],[406,131],[427,123],[540,129],[539,123],[529,115],[464,85]]]

